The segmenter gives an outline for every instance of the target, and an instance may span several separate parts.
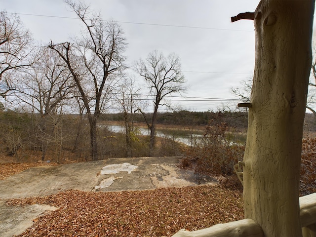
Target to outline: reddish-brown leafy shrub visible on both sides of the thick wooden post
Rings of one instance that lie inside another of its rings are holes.
[[[230,189],[242,189],[233,165],[242,160],[245,147],[227,141],[227,132],[225,123],[208,125],[203,141],[188,149],[186,157],[180,161],[180,167],[209,175],[232,175],[221,184]],[[316,193],[316,138],[304,138],[302,141],[300,174],[300,195]]]

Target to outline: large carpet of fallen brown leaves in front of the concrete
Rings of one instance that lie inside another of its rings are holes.
[[[48,197],[11,199],[8,205],[59,207],[37,218],[19,237],[172,236],[243,219],[242,194],[220,186],[93,193],[70,190]]]

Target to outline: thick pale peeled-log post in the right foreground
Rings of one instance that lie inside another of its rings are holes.
[[[265,237],[302,236],[299,178],[315,0],[261,0],[244,155],[245,218]]]

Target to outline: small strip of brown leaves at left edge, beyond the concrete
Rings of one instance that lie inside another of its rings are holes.
[[[6,163],[0,164],[0,180],[20,173],[31,167],[42,165],[57,165],[56,163],[36,162],[36,163]]]

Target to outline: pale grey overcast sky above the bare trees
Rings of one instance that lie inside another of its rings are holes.
[[[255,58],[253,21],[231,17],[254,11],[259,0],[85,0],[104,20],[120,22],[128,47],[127,63],[157,49],[176,53],[187,91],[183,96],[219,101],[173,101],[184,110],[222,107],[236,99],[232,87],[252,77]],[[80,34],[82,23],[63,0],[0,0],[0,10],[17,13],[35,40],[63,42]],[[31,14],[31,15],[24,15]],[[34,16],[43,15],[43,16]],[[54,16],[54,17],[48,17]],[[135,24],[142,23],[142,24]],[[139,79],[141,80],[141,79]],[[237,105],[237,102],[233,103]]]

